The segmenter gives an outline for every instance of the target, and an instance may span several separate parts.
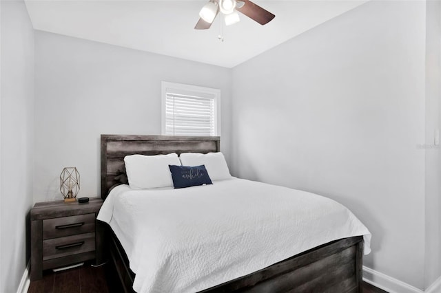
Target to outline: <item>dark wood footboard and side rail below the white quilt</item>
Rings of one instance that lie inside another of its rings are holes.
[[[109,230],[111,230],[109,228]],[[134,292],[134,273],[112,234],[110,254],[124,291]],[[363,237],[349,237],[307,250],[263,270],[216,285],[200,293],[219,292],[362,292]]]

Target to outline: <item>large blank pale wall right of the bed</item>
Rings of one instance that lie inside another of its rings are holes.
[[[424,287],[425,3],[371,1],[233,69],[238,177],[326,195]]]

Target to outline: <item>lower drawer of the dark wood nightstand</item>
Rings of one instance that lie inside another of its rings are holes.
[[[43,261],[95,250],[95,233],[85,233],[43,241]]]

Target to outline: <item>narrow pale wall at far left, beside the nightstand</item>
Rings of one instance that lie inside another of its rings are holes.
[[[23,1],[1,6],[0,292],[17,292],[32,207],[34,30]]]

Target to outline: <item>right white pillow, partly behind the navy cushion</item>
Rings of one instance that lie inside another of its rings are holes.
[[[183,166],[205,165],[211,180],[230,179],[227,162],[223,153],[181,153],[180,157]]]

